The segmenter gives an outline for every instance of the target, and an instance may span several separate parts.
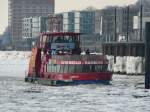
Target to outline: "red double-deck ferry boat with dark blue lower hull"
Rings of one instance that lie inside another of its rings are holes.
[[[109,84],[104,55],[81,55],[80,33],[42,33],[32,49],[26,82],[51,86],[72,84]]]

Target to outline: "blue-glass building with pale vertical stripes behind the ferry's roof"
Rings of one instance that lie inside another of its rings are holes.
[[[82,33],[83,50],[94,48],[95,13],[94,10],[70,11],[63,14],[63,32]]]

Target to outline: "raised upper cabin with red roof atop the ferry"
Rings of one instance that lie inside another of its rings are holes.
[[[42,33],[39,47],[51,55],[80,54],[80,33]]]

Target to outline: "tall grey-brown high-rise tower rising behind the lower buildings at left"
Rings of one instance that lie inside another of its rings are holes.
[[[22,20],[25,17],[47,16],[54,13],[54,0],[9,0],[9,28],[12,45],[21,47]]]

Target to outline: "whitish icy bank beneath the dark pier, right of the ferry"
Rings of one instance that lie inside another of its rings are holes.
[[[109,60],[108,69],[112,72],[121,72],[127,74],[144,74],[145,59],[143,57],[117,56],[114,62],[114,56],[107,56]]]

